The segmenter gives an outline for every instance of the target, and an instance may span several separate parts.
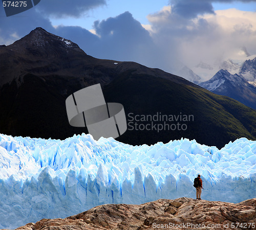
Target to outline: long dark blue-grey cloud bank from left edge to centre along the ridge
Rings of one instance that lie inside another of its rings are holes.
[[[156,55],[153,55],[157,48],[150,33],[129,12],[96,21],[94,29],[97,36],[81,27],[55,28],[49,19],[43,17],[35,8],[11,17],[3,16],[4,23],[0,25],[0,44],[11,44],[36,27],[42,27],[50,33],[72,40],[84,52],[96,58],[135,61],[157,67]],[[4,10],[1,11],[4,15]]]

